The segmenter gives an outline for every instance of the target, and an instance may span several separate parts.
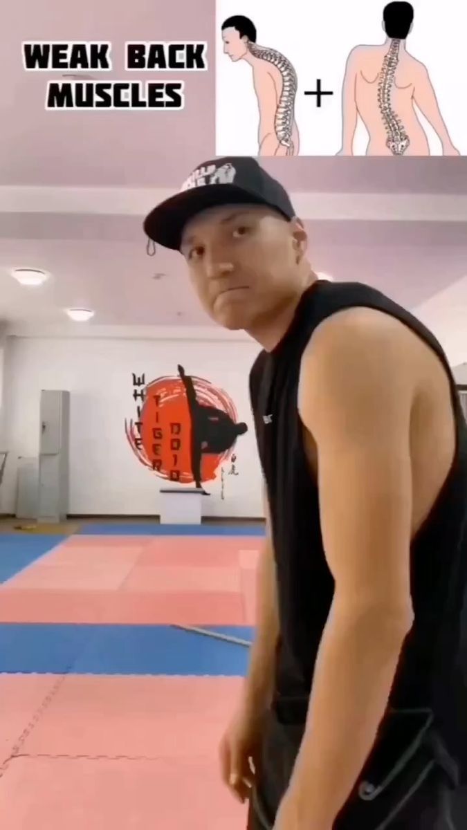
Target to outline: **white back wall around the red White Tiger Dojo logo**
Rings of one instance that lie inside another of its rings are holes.
[[[248,373],[258,354],[249,342],[157,339],[7,339],[4,389],[5,443],[11,452],[2,511],[13,513],[17,457],[36,457],[39,446],[41,389],[69,389],[70,506],[78,515],[154,515],[160,487],[167,482],[143,466],[125,437],[125,419],[137,420],[132,373],[146,383],[160,376],[186,374],[205,378],[233,399],[238,421],[248,432],[234,448],[238,476],[224,475],[205,484],[204,514],[263,515],[261,472],[248,396]]]

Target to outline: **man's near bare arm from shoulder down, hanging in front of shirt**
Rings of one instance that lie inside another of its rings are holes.
[[[413,382],[396,326],[346,311],[315,332],[302,360],[299,408],[317,442],[335,592],[288,794],[303,826],[320,830],[332,828],[371,752],[412,625]]]

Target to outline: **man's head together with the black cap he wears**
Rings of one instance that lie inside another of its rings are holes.
[[[257,159],[199,165],[144,227],[150,239],[182,253],[204,309],[230,330],[258,331],[309,281],[302,222]]]

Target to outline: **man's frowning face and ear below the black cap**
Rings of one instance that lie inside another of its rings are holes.
[[[184,228],[181,252],[199,300],[230,330],[253,330],[294,292],[306,234],[268,207],[227,205]]]

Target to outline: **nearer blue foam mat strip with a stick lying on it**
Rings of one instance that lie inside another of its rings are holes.
[[[251,640],[248,627],[209,627]],[[170,626],[0,624],[0,673],[240,676],[247,647]]]

